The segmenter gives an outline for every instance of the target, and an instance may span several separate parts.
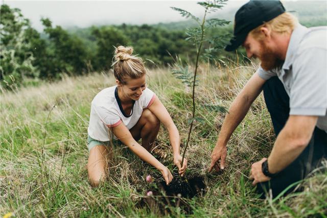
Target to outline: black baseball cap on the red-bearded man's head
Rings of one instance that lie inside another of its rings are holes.
[[[247,34],[285,12],[280,1],[253,0],[243,5],[235,15],[234,37],[225,47],[227,52],[236,50],[246,39]]]

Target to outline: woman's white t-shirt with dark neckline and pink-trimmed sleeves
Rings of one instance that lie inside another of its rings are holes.
[[[135,101],[131,114],[126,115],[121,107],[117,86],[105,88],[100,91],[91,103],[90,122],[87,133],[91,138],[98,141],[113,139],[109,129],[120,125],[122,122],[131,129],[141,117],[143,109],[151,106],[155,99],[155,93],[146,88],[141,97]],[[115,138],[115,137],[114,137]]]

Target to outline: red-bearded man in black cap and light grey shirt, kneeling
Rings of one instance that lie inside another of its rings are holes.
[[[261,66],[229,108],[209,172],[224,169],[227,141],[263,90],[277,137],[269,157],[252,164],[250,179],[275,197],[327,155],[327,28],[301,26],[279,1],[250,1],[236,13],[225,50],[240,45]]]

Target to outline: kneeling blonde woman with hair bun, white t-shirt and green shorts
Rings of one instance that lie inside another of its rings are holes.
[[[181,176],[185,173],[187,160],[181,166],[178,130],[165,106],[146,87],[145,66],[132,52],[132,47],[116,48],[112,64],[116,86],[100,91],[91,103],[87,171],[92,186],[98,186],[106,176],[106,157],[111,153],[113,139],[119,139],[139,158],[157,168],[169,184],[173,179],[171,172],[150,154],[160,122],[169,132],[178,173]],[[137,143],[141,138],[142,146]]]

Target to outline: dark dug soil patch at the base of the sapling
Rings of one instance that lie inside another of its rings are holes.
[[[186,179],[174,175],[174,179],[169,185],[162,181],[155,186],[151,189],[153,195],[143,198],[138,206],[147,206],[150,210],[161,214],[170,213],[170,208],[167,206],[180,207],[186,214],[192,214],[192,208],[185,199],[203,196],[206,192],[206,185],[203,182],[203,177],[200,176]]]

